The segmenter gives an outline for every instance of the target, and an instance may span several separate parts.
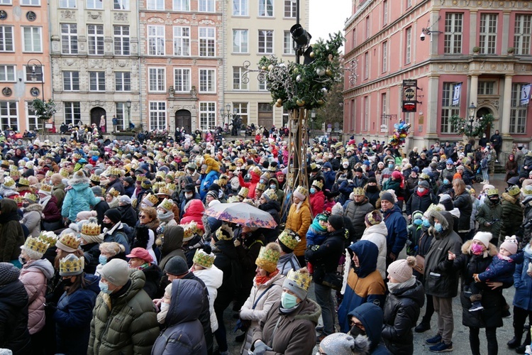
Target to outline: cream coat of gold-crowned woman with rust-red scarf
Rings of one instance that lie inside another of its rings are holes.
[[[262,317],[267,315],[272,305],[280,299],[283,281],[284,275],[277,273],[273,278],[267,280],[266,283],[260,285],[253,283],[248,300],[245,301],[240,309],[240,319],[251,322],[250,327],[248,327],[248,332],[245,334],[245,342],[242,349],[240,349],[240,354],[248,354],[248,350],[251,349],[253,329],[259,326]],[[258,300],[257,305],[253,309],[253,305],[258,297],[260,297],[260,300]]]

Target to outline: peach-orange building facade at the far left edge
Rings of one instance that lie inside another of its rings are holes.
[[[52,97],[48,5],[0,0],[0,129],[40,129],[31,102]]]

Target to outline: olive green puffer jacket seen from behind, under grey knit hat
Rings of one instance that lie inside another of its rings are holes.
[[[144,273],[131,270],[125,293],[118,297],[98,295],[87,354],[150,354],[159,324],[144,283]]]

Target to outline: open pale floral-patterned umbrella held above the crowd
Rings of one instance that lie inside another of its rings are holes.
[[[206,209],[205,214],[242,226],[257,226],[266,229],[275,229],[277,226],[271,214],[243,202],[218,203]]]

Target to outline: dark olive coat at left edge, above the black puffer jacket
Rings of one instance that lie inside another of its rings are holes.
[[[0,200],[0,261],[9,263],[18,259],[24,244],[24,233],[16,212],[16,202]]]

